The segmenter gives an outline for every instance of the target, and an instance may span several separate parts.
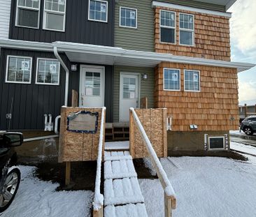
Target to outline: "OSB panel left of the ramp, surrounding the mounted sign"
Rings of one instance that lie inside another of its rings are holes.
[[[79,111],[99,112],[97,133],[75,133],[67,130],[67,117],[71,112]],[[59,162],[97,160],[100,128],[101,108],[62,107]]]

